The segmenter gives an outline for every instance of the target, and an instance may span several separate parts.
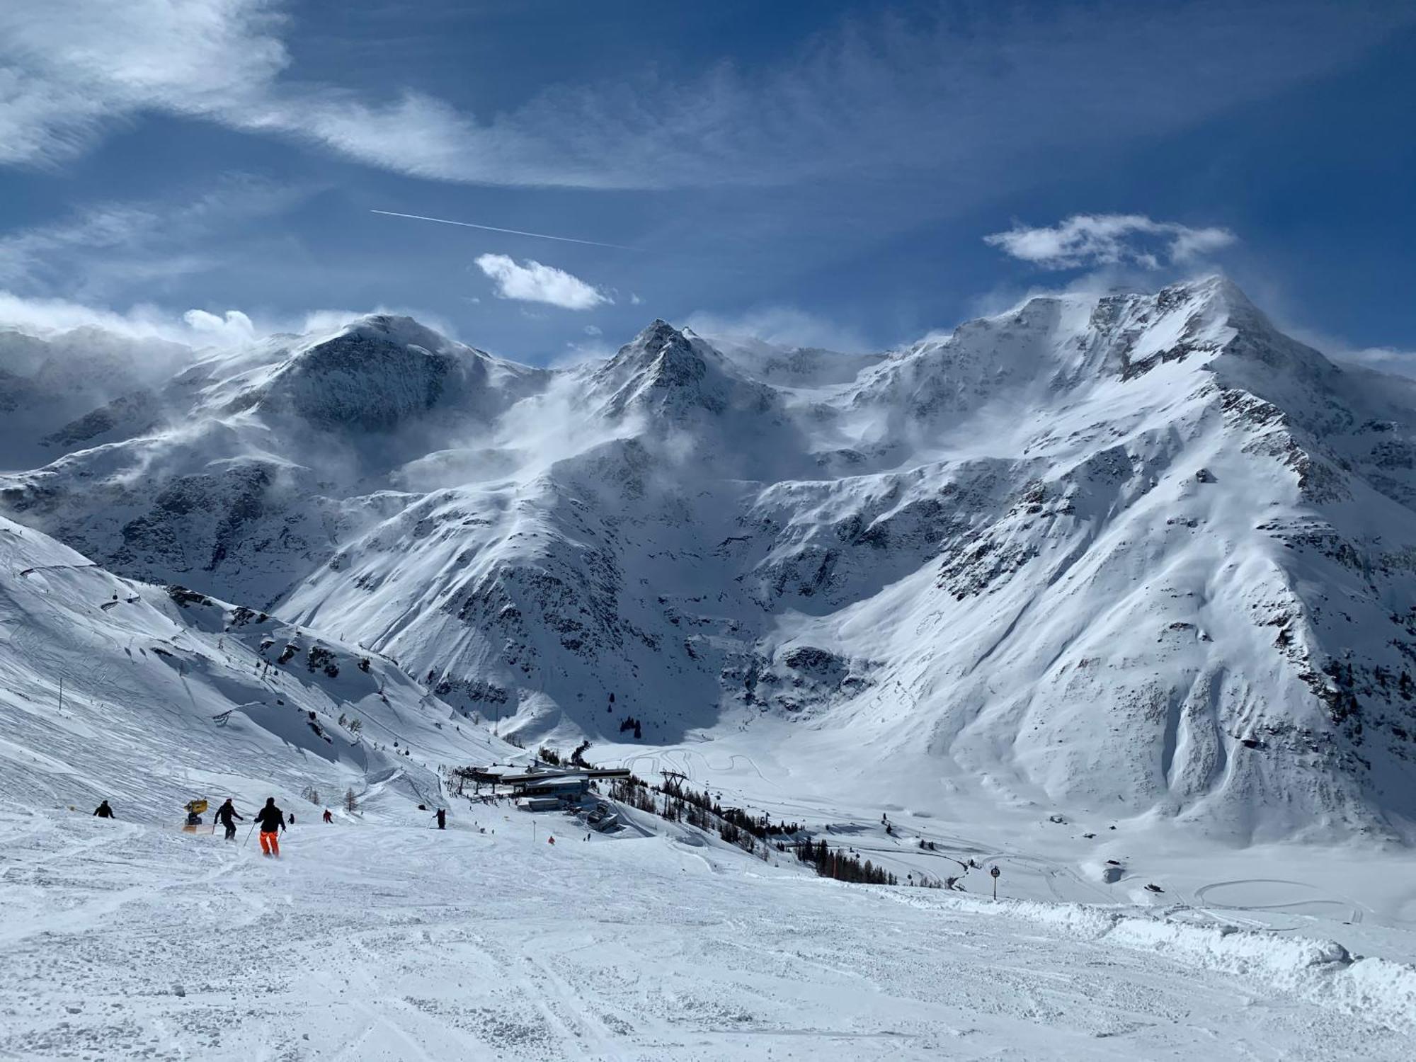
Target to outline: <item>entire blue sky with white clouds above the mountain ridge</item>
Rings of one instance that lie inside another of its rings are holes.
[[[1413,55],[1410,3],[10,0],[0,312],[382,307],[551,361],[1219,268],[1400,367]]]

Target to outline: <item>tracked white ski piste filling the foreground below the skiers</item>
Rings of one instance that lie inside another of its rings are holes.
[[[555,817],[532,841],[513,816],[302,821],[276,862],[0,810],[0,1058],[1416,1054],[1412,969],[1337,946],[759,875]]]

